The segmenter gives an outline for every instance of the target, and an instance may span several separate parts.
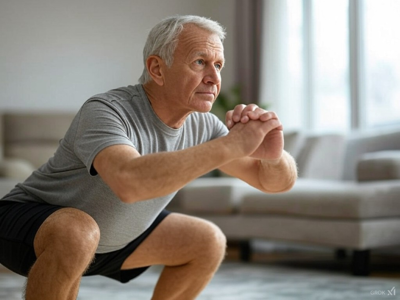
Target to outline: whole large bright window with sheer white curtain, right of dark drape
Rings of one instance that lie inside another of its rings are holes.
[[[261,94],[275,101],[272,108],[286,127],[400,125],[400,0],[265,4],[267,75]]]

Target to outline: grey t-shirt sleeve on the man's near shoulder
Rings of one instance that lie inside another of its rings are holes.
[[[96,99],[86,102],[79,115],[73,142],[75,155],[85,164],[88,172],[96,176],[93,160],[104,148],[116,144],[135,147],[128,137],[128,126],[110,102]]]

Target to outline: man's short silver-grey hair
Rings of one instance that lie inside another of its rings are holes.
[[[178,36],[184,28],[184,24],[194,24],[200,28],[217,34],[221,42],[225,38],[225,29],[216,21],[200,16],[172,16],[162,20],[150,30],[146,44],[143,48],[144,69],[139,78],[140,84],[146,84],[152,78],[146,68],[146,60],[150,55],[160,56],[165,64],[170,67],[174,60],[174,52],[178,45]]]

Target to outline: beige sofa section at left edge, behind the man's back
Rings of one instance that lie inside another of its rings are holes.
[[[44,164],[58,147],[74,113],[0,113],[0,196]]]

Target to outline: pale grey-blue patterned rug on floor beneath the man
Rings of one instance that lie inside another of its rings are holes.
[[[154,266],[128,284],[120,284],[102,276],[85,277],[78,300],[149,300],[160,270],[160,266]],[[0,299],[20,300],[24,281],[25,278],[21,276],[0,272]],[[398,278],[354,277],[326,269],[224,262],[198,300],[381,298],[400,298]]]

